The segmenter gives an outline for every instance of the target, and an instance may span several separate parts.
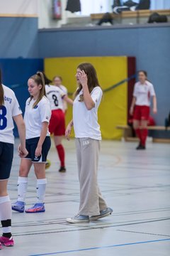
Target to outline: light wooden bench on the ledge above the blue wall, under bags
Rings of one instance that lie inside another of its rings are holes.
[[[122,11],[121,14],[111,14],[113,18],[149,18],[151,14],[157,12],[160,15],[170,16],[170,9],[168,10],[140,10],[140,11]],[[91,14],[91,20],[98,20],[104,14]]]

